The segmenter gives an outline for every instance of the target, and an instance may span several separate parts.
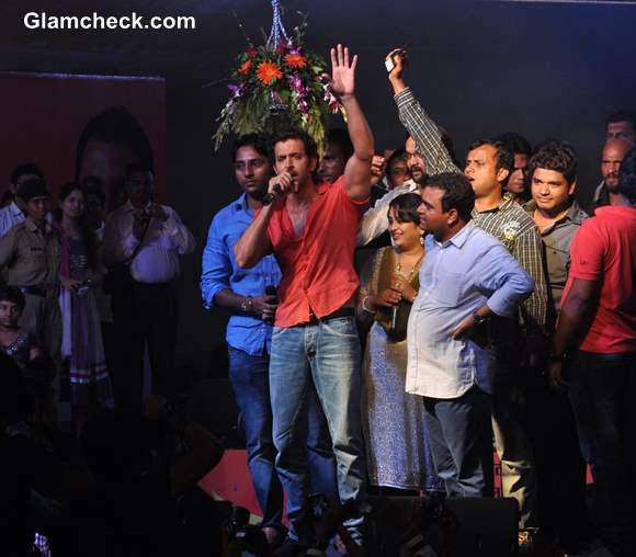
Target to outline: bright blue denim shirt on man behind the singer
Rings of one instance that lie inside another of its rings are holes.
[[[237,265],[234,247],[253,217],[254,212],[248,208],[243,193],[212,219],[201,273],[201,295],[205,308],[214,305],[214,298],[223,289],[229,288],[240,296],[261,296],[265,293],[265,286],[277,286],[281,282],[281,270],[273,255],[263,258],[251,269]],[[264,350],[270,352],[271,339],[270,323],[251,316],[230,317],[226,340],[231,348],[260,355]]]

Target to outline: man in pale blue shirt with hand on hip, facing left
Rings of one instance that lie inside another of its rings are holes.
[[[424,399],[433,461],[450,497],[492,493],[490,317],[510,317],[534,283],[492,236],[470,223],[468,179],[430,177],[418,207],[427,237],[408,325],[406,390]]]

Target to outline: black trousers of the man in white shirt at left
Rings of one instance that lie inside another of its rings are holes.
[[[144,352],[152,368],[152,394],[172,394],[179,303],[174,283],[135,283],[113,297],[116,338],[115,368],[111,371],[115,403],[137,411],[144,388]]]

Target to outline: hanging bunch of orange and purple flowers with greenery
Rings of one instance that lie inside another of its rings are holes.
[[[323,150],[330,113],[344,109],[331,93],[322,76],[327,65],[321,56],[303,48],[305,22],[286,35],[273,0],[274,25],[265,45],[249,47],[236,59],[230,73],[229,100],[217,118],[214,135],[218,149],[227,135],[271,134],[286,126],[305,129]],[[249,41],[249,39],[248,39]]]

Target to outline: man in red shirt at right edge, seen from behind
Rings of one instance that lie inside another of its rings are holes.
[[[594,476],[593,518],[614,555],[634,555],[636,148],[623,159],[616,203],[582,224],[570,255],[550,379],[564,384],[567,352],[579,442]]]

